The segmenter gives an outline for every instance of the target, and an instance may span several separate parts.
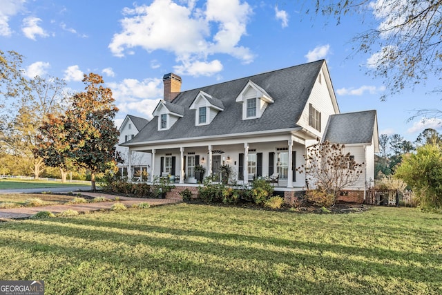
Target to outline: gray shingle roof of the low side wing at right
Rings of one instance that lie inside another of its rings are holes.
[[[375,135],[376,111],[331,115],[323,141],[340,144],[367,144]]]

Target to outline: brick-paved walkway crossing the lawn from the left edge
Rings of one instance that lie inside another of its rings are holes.
[[[114,199],[117,196],[108,195],[106,193],[90,193],[88,191],[81,191],[82,196],[90,196],[93,198],[104,197],[106,199]],[[128,198],[128,197],[118,197],[119,202],[124,204],[126,207],[131,207],[133,204],[140,204],[142,202],[147,202],[151,206],[157,206],[162,204],[175,204],[182,202],[181,199],[144,199],[144,198]],[[61,213],[68,209],[73,209],[79,213],[90,212],[90,211],[100,211],[100,210],[110,210],[115,201],[111,202],[93,202],[84,204],[55,204],[40,207],[21,207],[21,208],[11,208],[11,209],[0,209],[0,219],[20,219],[29,218],[30,216],[38,213],[39,211],[50,211],[52,213]]]

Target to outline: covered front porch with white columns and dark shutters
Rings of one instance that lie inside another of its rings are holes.
[[[129,153],[133,151],[151,153],[149,182],[169,178],[175,184],[191,187],[212,176],[214,182],[224,180],[233,185],[264,178],[279,190],[305,187],[305,175],[296,172],[304,162],[305,140],[292,134],[130,146]],[[129,162],[129,179],[131,173]]]

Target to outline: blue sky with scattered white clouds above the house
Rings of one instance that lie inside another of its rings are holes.
[[[441,132],[437,118],[407,122],[439,107],[436,77],[381,102],[383,81],[365,74],[376,55],[352,55],[352,38],[382,19],[368,12],[336,26],[303,12],[314,2],[0,0],[0,49],[23,55],[29,77],[64,78],[74,91],[84,89],[83,73],[102,75],[117,124],[151,117],[166,73],[180,75],[185,91],[326,59],[341,113],[376,109],[380,134],[412,142],[425,128]]]

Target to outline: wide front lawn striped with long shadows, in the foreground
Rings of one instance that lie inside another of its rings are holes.
[[[442,215],[177,204],[0,223],[0,278],[46,294],[442,294]]]

